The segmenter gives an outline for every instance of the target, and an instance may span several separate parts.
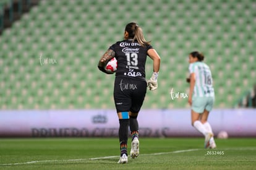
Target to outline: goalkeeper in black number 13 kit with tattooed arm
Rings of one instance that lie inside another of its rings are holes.
[[[153,60],[153,74],[150,80],[145,79],[145,64],[149,56]],[[114,103],[119,118],[120,158],[118,163],[128,163],[127,140],[128,130],[132,136],[130,156],[139,156],[139,124],[137,116],[142,107],[147,87],[155,90],[160,70],[160,56],[146,41],[142,28],[131,22],[124,30],[124,40],[117,41],[109,47],[98,62],[98,68],[109,74],[105,66],[110,59],[116,57],[117,70],[114,81]]]

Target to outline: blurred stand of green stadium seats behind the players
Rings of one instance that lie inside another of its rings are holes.
[[[255,9],[254,0],[1,0],[0,109],[114,111],[114,75],[97,64],[129,22],[161,56],[142,109],[190,108],[170,92],[188,93],[191,51],[205,54],[216,109],[255,108]]]

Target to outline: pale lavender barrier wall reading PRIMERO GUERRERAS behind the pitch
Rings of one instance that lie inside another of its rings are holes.
[[[256,137],[256,109],[214,109],[208,121],[214,134]],[[202,137],[189,109],[142,109],[140,137]],[[115,110],[0,111],[0,137],[117,137]]]

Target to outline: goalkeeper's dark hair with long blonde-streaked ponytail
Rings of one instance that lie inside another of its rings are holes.
[[[146,41],[142,32],[142,28],[135,22],[130,22],[126,25],[125,31],[129,34],[129,38],[138,41],[141,46],[150,45],[150,41]]]

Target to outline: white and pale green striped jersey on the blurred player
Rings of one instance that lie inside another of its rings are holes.
[[[211,70],[204,62],[193,62],[189,65],[190,74],[195,74],[195,87],[193,96],[215,96]]]

